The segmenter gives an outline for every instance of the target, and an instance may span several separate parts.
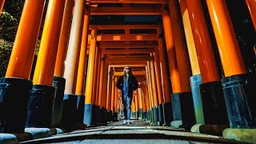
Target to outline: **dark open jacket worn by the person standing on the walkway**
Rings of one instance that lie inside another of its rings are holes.
[[[119,90],[122,90],[122,85],[123,85],[123,75],[120,78],[118,78],[118,82],[116,86]],[[133,97],[133,91],[137,89],[138,89],[138,81],[133,74],[130,74],[128,78],[128,97]],[[122,92],[122,95],[123,95],[123,92]]]

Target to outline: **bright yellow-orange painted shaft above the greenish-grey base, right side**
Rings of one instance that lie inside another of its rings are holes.
[[[192,28],[190,24],[190,16],[186,7],[185,0],[179,0],[179,2],[180,2],[181,12],[182,12],[183,27],[186,35],[186,45],[190,55],[190,66],[191,66],[192,74],[197,75],[197,74],[200,74],[200,68],[198,63],[198,54],[194,46],[194,37],[192,34]]]

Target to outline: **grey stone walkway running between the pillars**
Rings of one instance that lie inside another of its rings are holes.
[[[134,118],[131,124],[123,124],[122,117],[118,119],[118,122],[109,122],[106,126],[89,127],[21,143],[245,143],[170,126],[150,126]]]

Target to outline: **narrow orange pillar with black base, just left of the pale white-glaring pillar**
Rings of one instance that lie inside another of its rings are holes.
[[[56,95],[54,98],[54,107],[53,107],[53,117],[52,122],[53,126],[59,126],[62,120],[62,105],[63,97],[65,90],[66,79],[63,78],[64,74],[64,62],[66,59],[66,51],[69,42],[70,28],[71,28],[71,19],[72,19],[72,10],[74,7],[73,0],[66,0],[65,8],[62,18],[62,28],[58,40],[58,52],[57,58],[54,67],[54,82],[53,86],[56,87]]]

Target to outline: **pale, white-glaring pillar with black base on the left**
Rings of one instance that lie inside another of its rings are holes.
[[[62,110],[63,126],[74,127],[79,121],[82,123],[81,114],[79,114],[79,120],[76,112],[78,107],[81,106],[82,94],[76,95],[76,84],[78,78],[78,65],[79,55],[82,43],[82,28],[85,18],[86,2],[84,0],[78,0],[74,3],[74,14],[70,30],[70,40],[66,54],[66,65],[64,70],[64,78],[66,78],[66,85],[64,90],[64,104]],[[86,13],[88,14],[88,12]],[[79,103],[77,105],[77,103]],[[78,106],[78,107],[77,107]]]

